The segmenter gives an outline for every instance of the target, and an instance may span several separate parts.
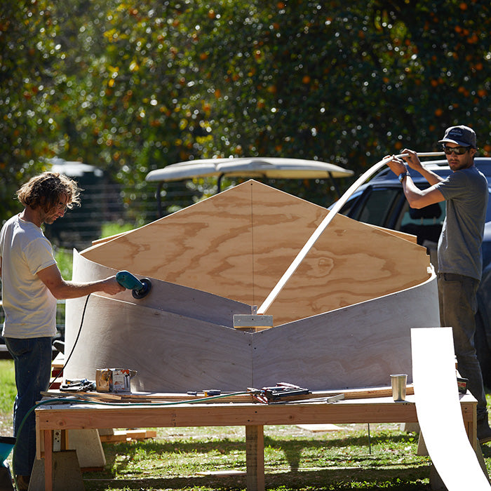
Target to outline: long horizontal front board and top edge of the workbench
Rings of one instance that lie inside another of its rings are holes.
[[[469,416],[466,416],[469,419]],[[107,405],[76,405],[57,409],[42,406],[39,429],[85,429],[128,427],[137,421],[142,428],[159,426],[243,426],[250,424],[315,424],[417,422],[412,396],[405,403],[392,398],[354,399],[337,403],[296,404],[180,404],[121,408]]]

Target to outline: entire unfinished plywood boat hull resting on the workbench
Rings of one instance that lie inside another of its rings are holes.
[[[151,277],[152,291],[90,295],[85,309],[86,299],[67,301],[67,353],[81,329],[65,376],[131,368],[142,391],[343,389],[387,385],[393,372],[411,382],[410,328],[439,322],[429,258],[410,237],[346,217],[271,305],[274,328],[234,328],[233,315],[264,300],[325,213],[252,181],[75,254],[76,281],[128,269]]]

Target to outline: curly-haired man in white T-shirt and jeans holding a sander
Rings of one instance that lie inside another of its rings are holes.
[[[0,278],[5,313],[2,336],[15,363],[17,396],[13,410],[15,471],[18,490],[27,490],[36,456],[34,412],[19,427],[29,410],[48,389],[51,375],[51,338],[56,334],[59,299],[93,292],[115,295],[124,290],[110,276],[90,283],[65,281],[53,257],[41,224],[53,223],[67,208],[80,203],[74,180],[46,172],[20,187],[17,197],[24,210],[11,217],[0,231]]]

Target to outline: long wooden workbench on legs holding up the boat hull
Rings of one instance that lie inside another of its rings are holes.
[[[460,396],[469,440],[476,448],[476,400]],[[417,422],[414,396],[395,403],[391,397],[335,403],[213,403],[108,406],[41,405],[36,409],[37,458],[45,461],[45,490],[53,490],[53,431],[68,429],[174,426],[245,426],[247,489],[264,490],[264,425]],[[42,444],[41,444],[42,443]]]

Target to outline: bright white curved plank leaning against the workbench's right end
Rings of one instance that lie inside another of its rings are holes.
[[[490,490],[462,419],[452,328],[412,329],[411,343],[417,417],[440,478],[448,491]]]

